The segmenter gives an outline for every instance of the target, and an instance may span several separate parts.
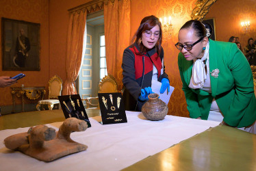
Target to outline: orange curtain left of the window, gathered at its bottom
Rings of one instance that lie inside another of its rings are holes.
[[[78,11],[71,14],[68,24],[68,40],[66,50],[66,75],[62,94],[77,94],[75,80],[81,68],[81,61],[84,57],[86,46],[86,14],[87,12]]]

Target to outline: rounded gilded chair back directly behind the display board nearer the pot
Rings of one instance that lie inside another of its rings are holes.
[[[112,75],[106,75],[99,83],[99,93],[118,92],[116,79]]]

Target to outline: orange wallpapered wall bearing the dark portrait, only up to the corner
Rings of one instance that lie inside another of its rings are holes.
[[[13,86],[48,86],[49,81],[49,1],[48,0],[1,0],[0,18],[10,18],[31,23],[40,23],[40,71],[23,71],[25,78],[18,81]],[[2,37],[2,31],[1,31]],[[0,39],[0,44],[2,39]],[[2,49],[1,59],[2,59]],[[2,60],[0,60],[0,75],[11,76],[21,73],[21,71],[3,71]],[[12,94],[10,87],[0,88],[0,106],[12,105]],[[16,103],[20,104],[21,99],[16,98]],[[31,103],[31,101],[25,101]]]

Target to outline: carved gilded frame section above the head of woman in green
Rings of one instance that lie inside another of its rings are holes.
[[[197,0],[196,7],[192,10],[191,18],[192,20],[203,21],[205,15],[209,12],[209,8],[217,0]]]

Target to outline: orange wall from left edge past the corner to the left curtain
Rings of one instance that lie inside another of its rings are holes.
[[[88,1],[90,0],[1,0],[0,17],[40,23],[40,71],[3,71],[0,60],[0,75],[13,77],[18,73],[25,73],[27,76],[13,86],[44,86],[47,90],[48,81],[53,75],[59,75],[65,81],[68,9]],[[0,44],[1,41],[2,39]],[[10,87],[0,88],[0,94],[0,106],[12,105]],[[47,97],[48,94],[44,96]],[[25,98],[25,103],[35,102]],[[16,104],[21,104],[21,99],[16,98]]]

